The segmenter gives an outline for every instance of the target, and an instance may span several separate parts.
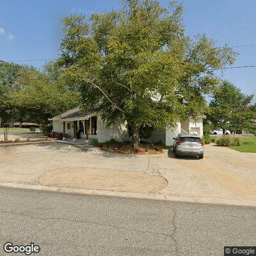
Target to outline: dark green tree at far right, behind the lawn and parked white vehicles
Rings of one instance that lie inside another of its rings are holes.
[[[246,95],[234,84],[223,81],[212,93],[207,121],[223,129],[223,134],[226,129],[250,131],[253,129],[252,120],[255,119],[252,99],[253,95]]]

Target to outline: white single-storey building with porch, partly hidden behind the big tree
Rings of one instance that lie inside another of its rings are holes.
[[[173,137],[178,134],[197,134],[203,136],[203,118],[199,116],[197,120],[189,119],[184,122],[177,122],[176,129],[166,127],[163,131],[154,131],[148,142],[161,141],[164,145],[173,145]],[[113,124],[106,128],[106,124],[100,118],[97,108],[81,111],[74,108],[54,116],[50,119],[54,132],[63,132],[70,138],[76,138],[77,131],[81,132],[81,140],[97,139],[99,142],[105,142],[111,139],[117,141],[129,140],[127,129],[124,124]]]

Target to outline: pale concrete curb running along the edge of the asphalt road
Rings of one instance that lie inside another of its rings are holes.
[[[76,189],[76,188],[60,188],[49,187],[42,185],[30,185],[30,184],[14,184],[0,182],[0,187],[4,188],[17,188],[28,189],[33,191],[48,191],[56,193],[66,193],[75,195],[96,195],[96,196],[111,196],[118,198],[134,198],[145,200],[161,200],[167,202],[182,202],[193,204],[216,204],[216,205],[230,205],[230,206],[242,206],[242,207],[256,207],[256,201],[250,200],[234,200],[223,198],[202,198],[202,197],[189,197],[189,196],[173,196],[173,195],[161,195],[161,194],[143,194],[133,192],[118,192],[118,191],[106,191],[106,190],[93,190],[93,189]]]

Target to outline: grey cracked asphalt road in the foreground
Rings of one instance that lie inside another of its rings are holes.
[[[33,242],[40,246],[37,255],[45,256],[223,255],[223,246],[256,245],[255,213],[248,207],[0,188],[0,255],[20,255],[3,251],[7,241]]]

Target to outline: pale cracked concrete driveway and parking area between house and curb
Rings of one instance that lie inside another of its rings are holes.
[[[0,182],[164,195],[256,205],[256,157],[207,145],[202,160],[172,152],[129,156],[63,143],[0,147]],[[99,173],[99,175],[97,175]],[[111,185],[109,185],[111,184]]]

